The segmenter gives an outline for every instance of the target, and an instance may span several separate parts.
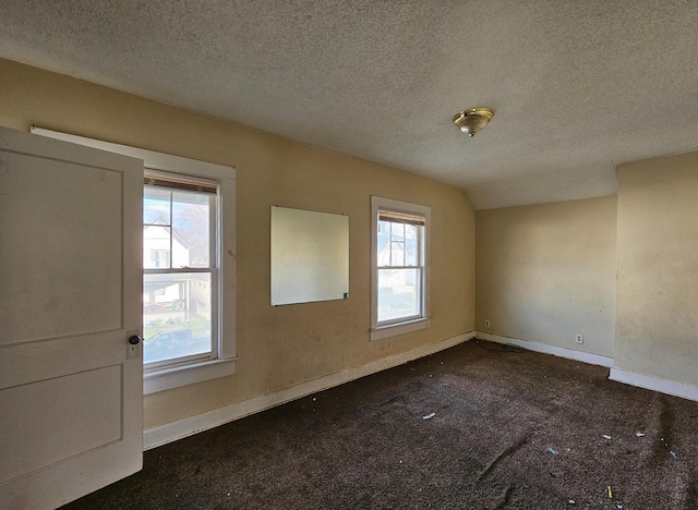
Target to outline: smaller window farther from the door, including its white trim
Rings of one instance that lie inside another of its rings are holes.
[[[371,339],[423,329],[431,208],[373,196]]]

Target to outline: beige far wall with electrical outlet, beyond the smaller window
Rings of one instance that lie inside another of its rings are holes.
[[[479,210],[476,239],[478,330],[613,356],[615,197]]]

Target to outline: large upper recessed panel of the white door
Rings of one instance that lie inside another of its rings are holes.
[[[121,236],[113,233],[122,229],[122,173],[25,154],[3,159],[23,170],[7,175],[12,193],[0,209],[3,243],[12,246],[0,252],[0,267],[16,269],[3,278],[9,299],[0,341],[118,329],[122,257]],[[85,251],[81,239],[99,246],[98,258],[87,256],[94,248]],[[93,286],[96,302],[84,291]]]

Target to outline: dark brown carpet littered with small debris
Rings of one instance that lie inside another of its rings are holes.
[[[607,376],[473,340],[147,451],[63,508],[698,509],[698,402]]]

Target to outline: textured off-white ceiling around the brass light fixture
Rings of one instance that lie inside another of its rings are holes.
[[[456,184],[612,194],[698,150],[695,0],[0,0],[0,57]],[[1,83],[1,77],[0,77]],[[452,123],[494,110],[474,138]]]

